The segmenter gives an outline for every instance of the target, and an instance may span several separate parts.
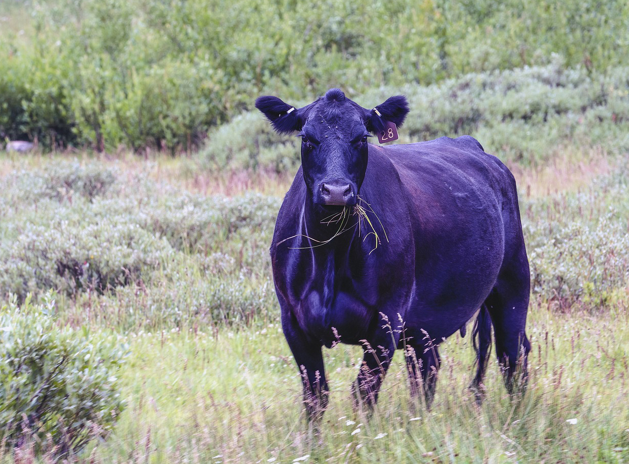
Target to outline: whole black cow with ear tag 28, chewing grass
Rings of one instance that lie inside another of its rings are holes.
[[[509,392],[524,385],[530,276],[508,168],[470,136],[367,143],[387,121],[401,126],[403,96],[372,110],[338,89],[304,108],[272,96],[255,106],[279,133],[301,136],[301,168],[270,255],[308,416],[320,417],[328,402],[321,346],[338,341],[365,350],[357,400],[375,404],[394,350],[404,348],[411,392],[423,390],[430,405],[438,344],[464,334],[479,308],[477,400],[492,323]]]

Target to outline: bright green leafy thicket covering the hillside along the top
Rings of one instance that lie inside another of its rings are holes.
[[[9,29],[0,45],[0,137],[97,150],[190,150],[260,94],[355,97],[554,54],[604,75],[629,43],[614,0],[63,0],[33,14],[29,40]]]

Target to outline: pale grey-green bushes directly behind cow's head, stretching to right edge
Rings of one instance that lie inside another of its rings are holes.
[[[426,87],[381,87],[355,99],[370,108],[405,94],[411,111],[399,132],[402,143],[470,134],[487,152],[526,165],[548,162],[557,145],[628,151],[627,75],[618,68],[591,77],[584,69],[566,70],[555,56],[545,66],[467,74]],[[211,169],[287,170],[301,162],[299,143],[275,135],[257,111],[211,131],[200,155]]]

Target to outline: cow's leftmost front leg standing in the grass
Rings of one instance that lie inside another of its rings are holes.
[[[328,406],[328,382],[323,369],[321,345],[308,341],[292,315],[282,315],[282,328],[301,373],[306,417],[309,421],[319,421]]]

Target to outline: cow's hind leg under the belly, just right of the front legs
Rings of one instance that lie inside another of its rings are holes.
[[[441,365],[437,345],[430,343],[425,346],[421,343],[409,343],[404,351],[406,353],[406,369],[411,384],[411,398],[417,399],[423,392],[426,407],[430,409],[435,397],[437,373]]]

